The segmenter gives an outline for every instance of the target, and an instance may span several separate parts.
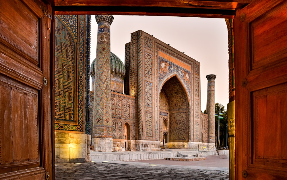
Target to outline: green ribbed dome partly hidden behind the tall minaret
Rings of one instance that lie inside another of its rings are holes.
[[[114,53],[110,52],[110,61],[111,61],[110,64],[111,73],[121,76],[121,78],[125,78],[125,65],[120,60],[120,58]],[[91,64],[91,76],[95,75],[95,63],[96,59],[94,59]]]

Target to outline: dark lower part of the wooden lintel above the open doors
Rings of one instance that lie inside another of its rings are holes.
[[[113,15],[145,15],[145,16],[185,16],[209,18],[233,18],[232,9],[206,9],[185,7],[132,7],[132,6],[56,6],[55,14],[113,14]]]

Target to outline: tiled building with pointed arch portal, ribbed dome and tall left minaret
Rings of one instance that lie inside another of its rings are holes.
[[[138,30],[125,45],[123,65],[107,46],[111,19],[96,16],[97,56],[90,92],[94,150],[214,147],[208,145],[208,115],[200,112],[200,63]]]

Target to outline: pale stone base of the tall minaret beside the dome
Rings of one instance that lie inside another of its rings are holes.
[[[113,151],[113,139],[96,137],[92,138],[94,151],[112,152]]]

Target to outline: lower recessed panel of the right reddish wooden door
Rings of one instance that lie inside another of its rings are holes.
[[[253,162],[287,167],[287,83],[254,91]],[[280,161],[278,161],[280,160]]]

